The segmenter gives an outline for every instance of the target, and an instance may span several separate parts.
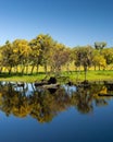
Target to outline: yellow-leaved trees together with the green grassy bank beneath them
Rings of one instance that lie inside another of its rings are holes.
[[[105,42],[66,47],[50,35],[40,34],[29,42],[8,40],[0,46],[0,80],[33,82],[50,75],[73,81],[110,80],[112,69],[113,47]]]

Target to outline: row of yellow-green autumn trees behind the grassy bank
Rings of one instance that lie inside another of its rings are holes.
[[[45,72],[60,73],[65,66],[70,71],[70,64],[86,72],[89,67],[106,69],[113,63],[113,48],[108,48],[106,43],[95,43],[93,46],[66,47],[55,42],[50,35],[40,34],[30,42],[15,39],[5,42],[0,47],[0,73],[4,69],[10,73],[33,74],[40,66]]]

